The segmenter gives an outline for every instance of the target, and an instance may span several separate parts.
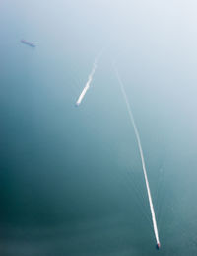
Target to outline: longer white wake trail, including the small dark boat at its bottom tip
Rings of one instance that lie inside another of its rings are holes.
[[[146,187],[147,187],[147,194],[148,194],[148,198],[149,198],[149,205],[150,205],[150,210],[151,210],[151,214],[152,214],[154,233],[155,233],[155,237],[156,237],[157,248],[159,249],[161,244],[160,244],[160,239],[159,239],[159,234],[158,234],[158,227],[157,227],[157,222],[156,222],[156,214],[155,214],[155,211],[154,211],[151,191],[150,191],[150,187],[149,187],[149,181],[148,181],[148,177],[147,177],[147,170],[146,170],[146,165],[145,165],[145,160],[144,160],[144,154],[143,154],[142,145],[141,145],[141,141],[140,141],[140,135],[139,135],[138,129],[137,129],[136,124],[135,124],[135,120],[134,120],[134,117],[133,117],[133,114],[132,114],[132,111],[131,111],[131,107],[130,107],[127,95],[126,95],[125,90],[124,90],[124,85],[122,83],[120,75],[119,75],[117,69],[115,68],[115,66],[114,66],[114,70],[115,70],[115,73],[116,73],[119,85],[121,87],[121,91],[122,91],[123,97],[124,97],[125,102],[126,102],[126,106],[127,106],[127,110],[128,110],[128,113],[129,113],[129,117],[130,117],[132,126],[133,126],[134,131],[135,131],[135,135],[136,135],[136,138],[137,138],[138,147],[139,147],[139,151],[140,151],[140,157],[141,157],[141,161],[142,161],[142,168],[143,168],[145,182],[146,182]]]

